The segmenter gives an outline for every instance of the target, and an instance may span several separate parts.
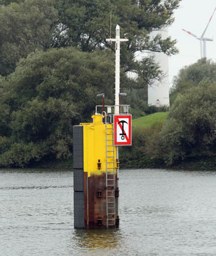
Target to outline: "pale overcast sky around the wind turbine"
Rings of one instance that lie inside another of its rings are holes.
[[[200,41],[182,31],[186,29],[200,37],[214,9],[216,0],[182,0],[175,11],[175,21],[169,28],[169,35],[178,41],[179,54],[169,58],[170,86],[173,76],[185,65],[200,59]],[[205,37],[214,38],[214,42],[206,42],[207,58],[216,61],[216,12],[209,24]]]

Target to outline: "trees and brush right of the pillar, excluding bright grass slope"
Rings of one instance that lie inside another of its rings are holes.
[[[200,59],[179,71],[167,121],[151,128],[134,128],[132,147],[122,149],[125,163],[166,167],[198,160],[216,166],[215,70],[215,62]]]

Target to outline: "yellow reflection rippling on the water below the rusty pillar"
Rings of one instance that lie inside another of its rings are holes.
[[[117,229],[75,230],[75,240],[82,248],[114,248],[121,243],[121,233]]]

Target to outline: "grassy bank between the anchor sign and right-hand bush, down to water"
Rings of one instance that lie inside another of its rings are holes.
[[[153,153],[166,118],[167,112],[157,112],[133,120],[132,145],[119,147],[121,168],[165,168],[163,159]]]

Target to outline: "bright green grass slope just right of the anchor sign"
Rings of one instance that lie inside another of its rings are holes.
[[[157,112],[151,115],[145,115],[145,117],[139,117],[138,119],[133,119],[132,126],[134,128],[141,127],[141,128],[148,128],[155,123],[161,122],[164,123],[167,119],[168,112]]]

